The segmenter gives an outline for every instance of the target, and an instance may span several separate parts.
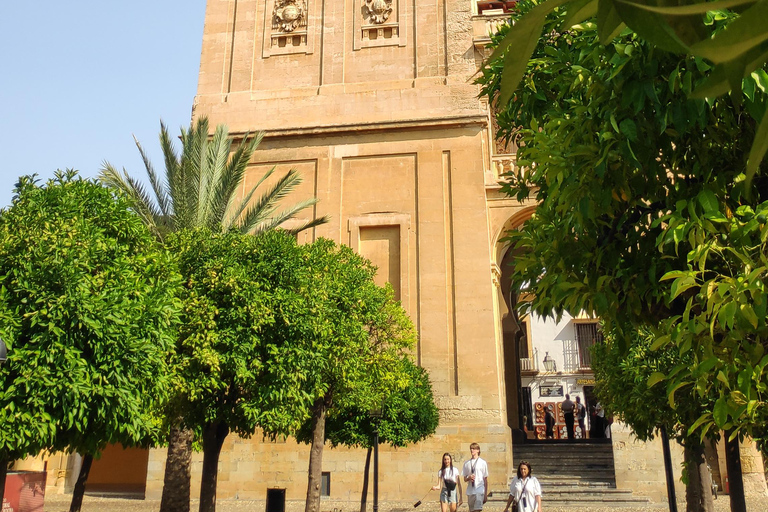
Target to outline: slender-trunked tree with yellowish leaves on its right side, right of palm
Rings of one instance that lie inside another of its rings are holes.
[[[276,325],[289,329],[303,358],[283,366],[281,373],[300,379],[309,397],[305,510],[318,512],[327,419],[338,411],[369,411],[382,403],[388,390],[397,389],[396,381],[403,378],[398,368],[416,333],[392,287],[375,284],[376,270],[369,261],[325,239],[305,251],[307,272],[300,279],[304,302],[300,309],[275,314]]]

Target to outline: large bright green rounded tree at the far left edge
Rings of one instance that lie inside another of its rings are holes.
[[[166,398],[179,277],[114,191],[57,172],[20,179],[0,212],[0,493],[9,460],[153,443]]]

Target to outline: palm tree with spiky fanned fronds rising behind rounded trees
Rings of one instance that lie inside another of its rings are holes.
[[[189,129],[181,130],[181,154],[173,147],[168,129],[160,123],[160,146],[165,160],[165,176],[155,171],[138,140],[141,158],[149,177],[150,195],[141,182],[125,170],[119,172],[104,162],[99,179],[107,186],[122,191],[132,200],[133,209],[144,223],[163,240],[169,232],[205,227],[213,231],[237,229],[243,233],[260,233],[276,229],[301,210],[313,206],[317,199],[307,199],[279,210],[279,203],[300,183],[301,176],[290,170],[255,201],[257,189],[274,173],[273,167],[241,199],[238,191],[256,147],[263,137],[259,133],[232,151],[227,127],[218,125],[209,136],[208,119],[201,117]],[[327,222],[326,217],[287,229],[298,233]],[[168,439],[161,512],[189,512],[190,466],[193,432],[181,416],[172,422]]]

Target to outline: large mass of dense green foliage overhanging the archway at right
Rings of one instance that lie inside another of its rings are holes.
[[[562,15],[547,21],[515,101],[499,109],[522,167],[506,190],[539,204],[510,234],[523,249],[513,280],[533,292],[525,307],[599,315],[622,350],[636,328],[657,328],[654,348],[672,341],[689,363],[652,383],[666,385],[671,404],[676,393],[695,392],[704,404],[718,397],[717,414],[692,427],[760,437],[768,359],[754,317],[766,303],[765,216],[754,212],[768,180],[747,182],[744,168],[754,118],[765,111],[764,96],[750,91],[765,89],[768,75],[745,80],[745,108],[730,96],[690,99],[706,80],[701,59],[629,32],[603,46],[593,23],[559,32],[561,23]],[[481,77],[492,99],[502,70],[492,62]],[[749,330],[732,331],[742,317]],[[737,382],[746,398],[732,393]]]

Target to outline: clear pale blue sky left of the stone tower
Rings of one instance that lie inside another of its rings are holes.
[[[205,0],[0,5],[0,207],[24,174],[143,177],[136,135],[162,169],[160,119],[178,135],[197,89]]]

